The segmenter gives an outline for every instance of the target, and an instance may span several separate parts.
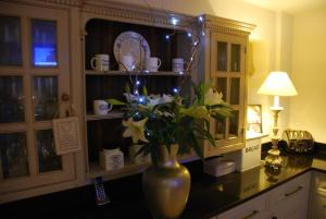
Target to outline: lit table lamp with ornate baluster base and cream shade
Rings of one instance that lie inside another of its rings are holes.
[[[271,72],[258,90],[258,94],[274,96],[274,106],[269,108],[274,115],[273,134],[271,135],[272,149],[268,150],[268,155],[265,158],[265,167],[272,170],[279,170],[283,160],[277,147],[279,142],[277,119],[278,113],[284,109],[279,106],[279,96],[296,96],[298,93],[286,72]]]

